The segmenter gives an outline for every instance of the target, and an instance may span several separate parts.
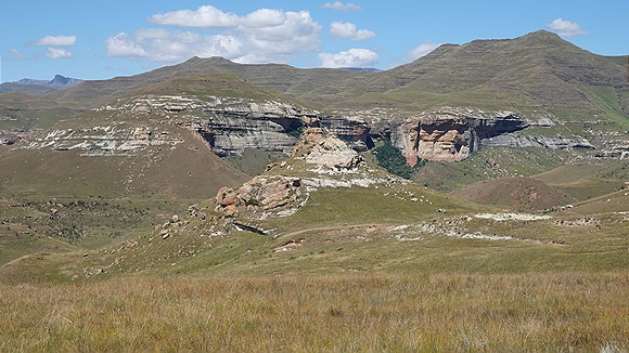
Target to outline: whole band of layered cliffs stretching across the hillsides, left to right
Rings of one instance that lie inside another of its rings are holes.
[[[288,156],[309,128],[324,129],[348,142],[354,151],[363,152],[373,147],[372,138],[382,136],[382,131],[372,132],[370,122],[382,125],[388,120],[386,114],[380,120],[356,112],[350,116],[328,116],[286,102],[211,95],[141,95],[94,110],[111,112],[112,123],[85,131],[66,129],[37,134],[20,144],[26,148],[80,148],[84,155],[126,155],[149,146],[181,143],[158,128],[168,123],[194,132],[220,157],[242,155],[246,148]],[[519,133],[529,126],[552,127],[554,122],[548,116],[525,118],[511,112],[442,107],[386,122],[385,135],[411,166],[418,158],[462,160],[474,151],[493,146],[594,148],[579,136]]]

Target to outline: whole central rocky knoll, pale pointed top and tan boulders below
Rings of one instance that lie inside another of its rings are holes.
[[[298,175],[298,176],[295,176]],[[363,162],[363,158],[323,128],[310,128],[293,148],[292,157],[269,165],[267,173],[236,188],[223,187],[216,211],[251,220],[297,212],[320,187],[370,187],[406,183]],[[235,224],[235,222],[234,222]]]

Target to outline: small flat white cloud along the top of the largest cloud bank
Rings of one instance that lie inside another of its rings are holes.
[[[182,27],[231,27],[236,24],[239,16],[224,13],[213,5],[205,5],[192,10],[179,10],[155,14],[147,18],[150,23]]]

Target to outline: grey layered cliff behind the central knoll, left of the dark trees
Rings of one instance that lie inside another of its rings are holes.
[[[277,101],[240,97],[144,95],[115,109],[123,115],[157,115],[203,136],[218,156],[242,155],[246,148],[290,155],[304,129],[322,127],[357,151],[373,145],[370,126],[355,117],[322,116],[317,110]]]

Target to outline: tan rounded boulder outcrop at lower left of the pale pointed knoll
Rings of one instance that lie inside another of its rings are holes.
[[[299,201],[303,193],[298,178],[258,175],[238,188],[223,187],[216,196],[218,212],[270,211]]]

